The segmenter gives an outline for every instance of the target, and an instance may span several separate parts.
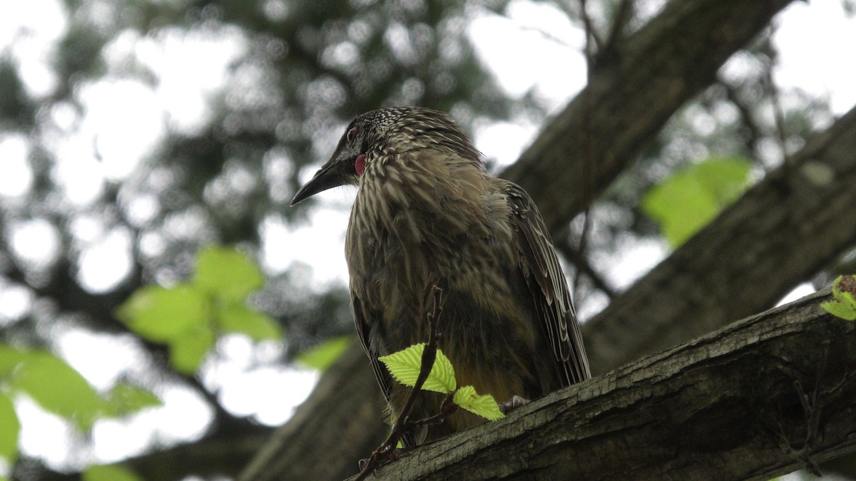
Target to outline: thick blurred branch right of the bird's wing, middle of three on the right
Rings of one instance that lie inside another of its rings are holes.
[[[586,323],[592,371],[609,371],[773,306],[853,246],[854,151],[856,109]]]

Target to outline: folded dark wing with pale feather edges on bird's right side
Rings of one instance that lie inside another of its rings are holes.
[[[591,372],[568,282],[550,233],[526,191],[512,182],[505,182],[503,190],[517,235],[520,270],[532,293],[538,318],[544,323],[550,347],[562,365],[567,383],[579,383],[591,377]]]

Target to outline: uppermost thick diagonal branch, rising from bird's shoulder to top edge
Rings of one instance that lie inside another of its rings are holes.
[[[556,235],[585,210],[586,194],[597,197],[635,162],[675,110],[710,86],[722,63],[788,3],[669,2],[639,32],[611,46],[606,58],[595,58],[589,85],[500,176],[526,188]],[[586,138],[590,158],[580,151]],[[580,175],[587,171],[590,179]]]

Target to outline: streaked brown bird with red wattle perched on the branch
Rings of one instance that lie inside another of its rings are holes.
[[[345,236],[354,324],[388,417],[409,388],[377,358],[428,341],[431,286],[443,289],[439,348],[459,386],[531,400],[591,377],[544,219],[526,191],[487,172],[454,118],[415,106],[357,116],[291,205],[346,185],[357,187]],[[419,393],[410,419],[438,413],[442,398]],[[405,446],[482,422],[458,409]]]

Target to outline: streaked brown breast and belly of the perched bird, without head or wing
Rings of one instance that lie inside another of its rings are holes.
[[[439,346],[459,385],[508,401],[568,384],[520,269],[519,212],[509,196],[519,188],[443,149],[378,155],[366,168],[346,257],[358,331],[370,357],[428,340],[428,293],[437,285],[443,288]],[[529,215],[540,219],[537,211]],[[395,414],[407,389],[389,383],[383,366],[373,364]],[[425,393],[413,416],[437,413],[438,406],[439,396]],[[459,410],[427,437],[479,422]]]

